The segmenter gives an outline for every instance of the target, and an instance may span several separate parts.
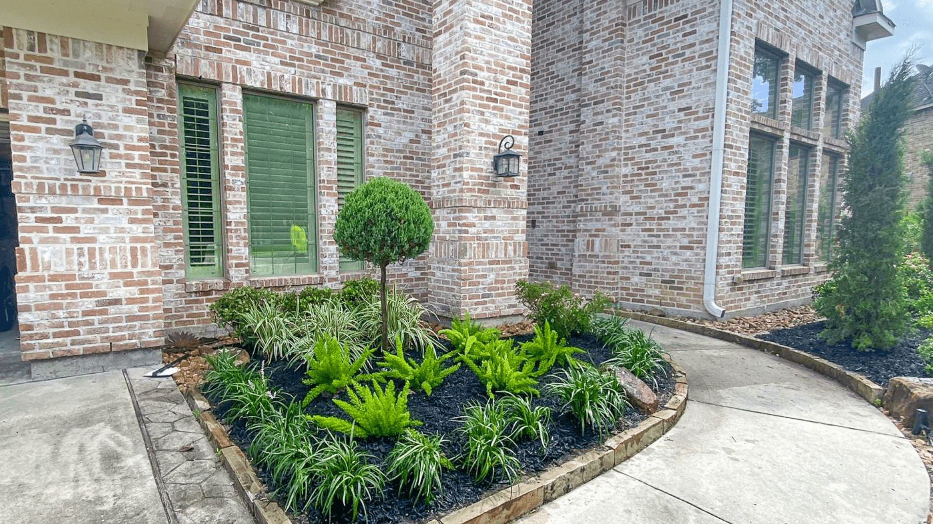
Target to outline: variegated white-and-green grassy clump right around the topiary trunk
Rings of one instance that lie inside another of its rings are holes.
[[[383,324],[388,329],[390,340],[402,339],[405,348],[417,348],[424,354],[428,346],[436,346],[439,342],[434,333],[422,323],[422,318],[428,312],[413,296],[404,293],[390,293],[385,302],[385,323],[381,312],[382,304],[372,296],[365,301],[357,312],[359,327],[370,346],[377,346],[382,338]],[[389,346],[385,351],[391,351]]]

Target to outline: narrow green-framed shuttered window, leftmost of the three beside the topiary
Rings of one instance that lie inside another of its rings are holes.
[[[178,85],[179,163],[187,277],[219,277],[223,274],[216,112],[216,90]]]

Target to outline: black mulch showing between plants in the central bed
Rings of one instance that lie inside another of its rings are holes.
[[[520,335],[513,337],[516,343],[530,340],[531,335]],[[451,346],[445,342],[448,351]],[[582,335],[571,338],[567,345],[583,349],[589,354],[578,355],[578,359],[592,361],[593,364],[601,364],[611,356],[610,352],[603,348],[603,345],[592,335]],[[670,371],[670,370],[668,370]],[[273,363],[266,366],[266,374],[270,377],[272,387],[278,388],[285,393],[293,396],[300,401],[305,393],[311,388],[301,383],[304,378],[303,369],[289,368],[285,363]],[[668,372],[666,379],[659,379],[658,396],[659,405],[663,406],[673,396],[675,390],[675,379]],[[541,380],[546,382],[550,377]],[[340,398],[346,400],[346,393],[340,393]],[[424,425],[417,427],[418,431],[425,434],[439,433],[445,434],[449,442],[445,447],[445,454],[448,457],[456,457],[461,446],[456,438],[454,429],[459,427],[458,421],[453,421],[455,417],[462,415],[461,407],[470,400],[485,402],[485,388],[476,378],[476,375],[469,370],[466,365],[444,379],[438,388],[435,388],[431,396],[424,392],[418,392],[409,396],[408,407],[411,411],[411,418],[424,422]],[[213,402],[214,398],[210,398]],[[553,409],[553,421],[550,427],[550,444],[545,454],[541,454],[539,443],[521,442],[518,445],[516,456],[522,464],[524,475],[533,475],[544,471],[550,466],[567,461],[589,449],[598,447],[605,439],[600,438],[598,434],[579,433],[579,422],[570,413],[560,413],[560,403],[557,399],[541,395],[534,402],[536,406],[550,406]],[[226,411],[224,407],[215,407],[216,416],[220,419]],[[331,415],[346,418],[345,413],[331,402],[331,398],[324,395],[314,399],[307,407],[308,413],[316,415]],[[625,415],[620,429],[634,427],[638,422],[643,421],[646,415],[630,408]],[[234,422],[229,428],[231,440],[244,451],[249,447],[253,434],[246,430],[243,421]],[[357,440],[360,448],[363,448],[371,454],[376,463],[384,461],[388,452],[395,444],[394,438],[369,438]],[[257,467],[254,464],[254,467]],[[272,478],[262,468],[257,467],[260,480],[269,488],[274,490],[275,483]],[[383,491],[383,497],[370,500],[366,503],[366,510],[371,524],[389,524],[389,523],[417,523],[425,522],[432,518],[440,517],[450,513],[454,509],[466,506],[480,500],[486,494],[495,490],[501,490],[508,486],[506,482],[483,482],[476,483],[472,477],[458,470],[445,470],[442,476],[443,493],[425,507],[424,503],[412,504],[404,495],[398,496],[397,486],[389,484]],[[304,501],[301,501],[303,504]],[[296,524],[318,524],[327,522],[317,510],[311,509],[306,515],[292,515],[292,521]],[[362,521],[362,510],[358,521]],[[349,512],[338,517],[337,511],[334,512],[332,522],[342,523],[350,522]]]

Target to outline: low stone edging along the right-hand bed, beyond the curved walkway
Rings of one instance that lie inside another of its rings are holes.
[[[724,329],[717,329],[708,325],[692,324],[682,320],[658,317],[649,315],[647,313],[636,311],[620,311],[619,314],[634,320],[649,322],[651,324],[659,324],[665,327],[673,327],[675,329],[689,331],[690,333],[696,333],[705,337],[718,338],[720,340],[726,340],[727,342],[734,342],[736,344],[741,344],[761,352],[779,356],[785,360],[809,367],[820,375],[829,377],[829,379],[835,379],[836,381],[842,383],[842,385],[845,387],[849,388],[853,393],[856,393],[858,396],[869,401],[872,405],[880,405],[882,397],[884,396],[884,388],[874,383],[870,379],[867,379],[866,377],[863,377],[862,375],[852,371],[843,369],[841,365],[833,364],[829,362],[829,360],[814,356],[807,352],[795,350],[789,346],[783,346],[781,344],[776,344],[774,342],[769,342],[768,340],[762,340],[760,338],[748,337],[746,335],[733,333]]]

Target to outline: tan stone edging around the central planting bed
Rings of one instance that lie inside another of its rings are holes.
[[[674,427],[687,407],[689,386],[686,373],[669,357],[667,361],[675,375],[674,395],[667,404],[648,415],[637,426],[610,437],[599,448],[426,524],[506,524],[577,489],[647,448]],[[230,436],[210,412],[211,405],[207,399],[197,390],[188,390],[185,397],[188,406],[200,412],[198,421],[202,429],[211,444],[220,450],[237,490],[251,505],[250,509],[259,524],[291,524],[281,506],[268,500],[256,472],[243,451],[230,441]]]

